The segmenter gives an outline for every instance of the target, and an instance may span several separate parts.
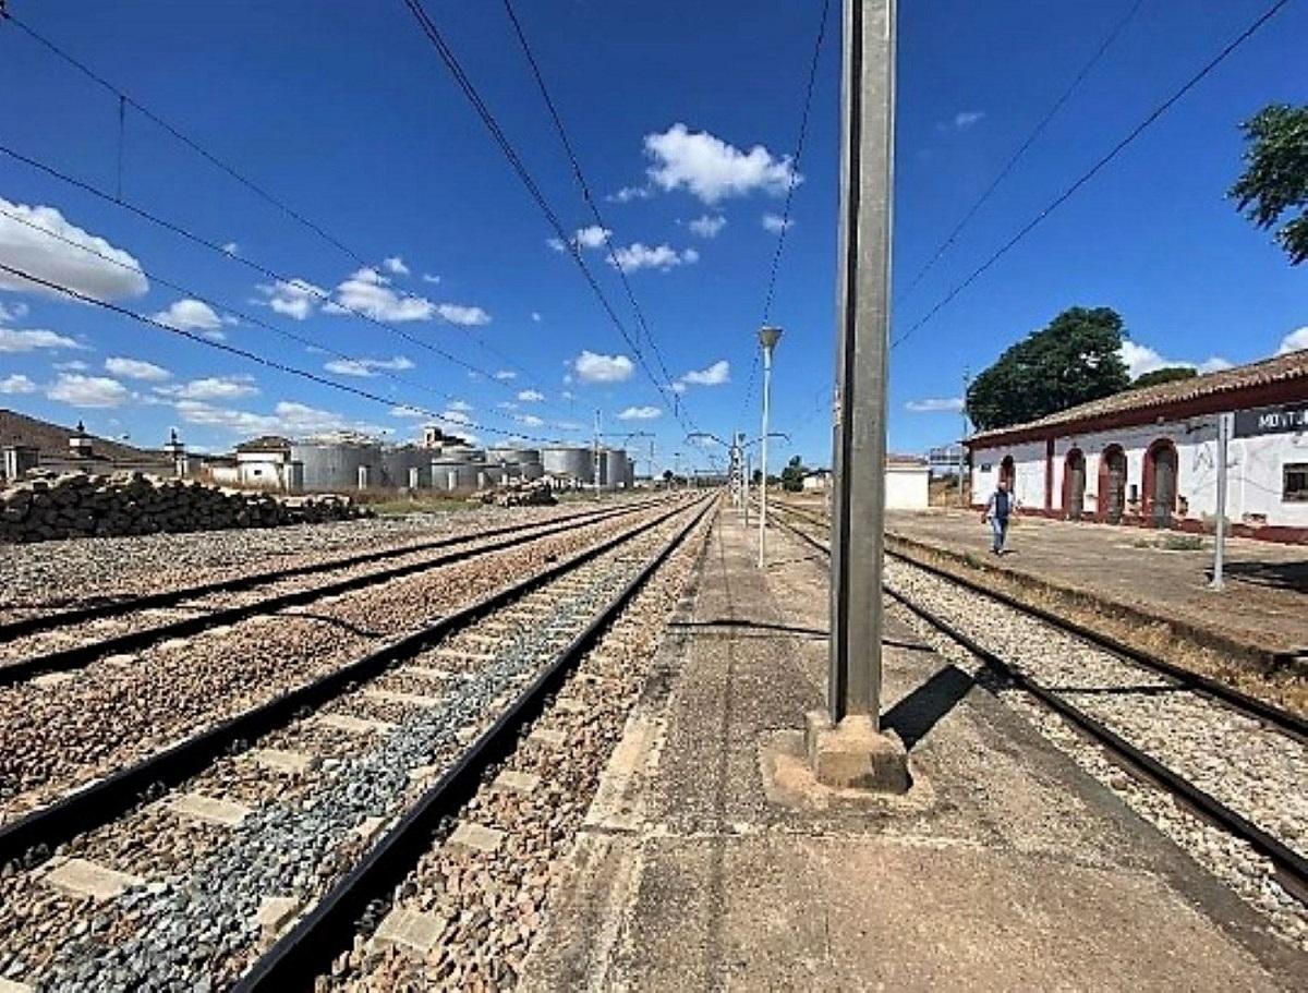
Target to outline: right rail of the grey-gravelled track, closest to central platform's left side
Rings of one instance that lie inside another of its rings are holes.
[[[472,798],[483,772],[511,754],[521,729],[539,716],[564,676],[599,641],[619,612],[636,597],[659,566],[704,519],[715,497],[701,501],[698,513],[681,527],[617,597],[591,620],[572,644],[556,654],[514,700],[463,752],[368,853],[368,856],[317,904],[317,907],[262,958],[235,985],[237,993],[310,989],[314,979],[347,951],[356,921],[377,899],[391,890],[417,865],[432,844],[439,820]],[[691,505],[693,508],[693,504]]]

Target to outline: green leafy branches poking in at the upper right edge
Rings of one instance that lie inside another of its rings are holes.
[[[1308,105],[1271,103],[1240,127],[1249,141],[1244,175],[1227,195],[1262,230],[1288,212],[1274,237],[1298,266],[1308,259]]]

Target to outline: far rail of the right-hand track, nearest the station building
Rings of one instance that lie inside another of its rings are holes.
[[[827,526],[825,521],[814,514],[808,514],[793,506],[786,506],[785,504],[780,504],[780,506],[782,506],[787,513],[791,513],[795,517],[799,517],[800,519],[806,519],[819,527]],[[896,535],[888,534],[887,536],[895,538]],[[1235,687],[1228,686],[1227,683],[1223,683],[1218,679],[1213,679],[1211,676],[1206,676],[1201,672],[1193,672],[1188,669],[1182,669],[1181,666],[1173,662],[1168,662],[1164,658],[1159,658],[1158,655],[1150,652],[1138,649],[1134,645],[1127,645],[1125,641],[1120,641],[1118,638],[1114,638],[1112,635],[1105,635],[1095,631],[1093,628],[1078,624],[1076,621],[1063,618],[1058,614],[1054,614],[1050,610],[1039,607],[1036,604],[1025,603],[1010,593],[1005,593],[1003,590],[993,590],[988,586],[981,585],[976,580],[971,580],[965,576],[957,576],[950,572],[948,569],[940,568],[939,565],[925,563],[913,555],[906,555],[901,551],[895,551],[892,548],[887,548],[886,555],[891,556],[892,559],[899,559],[901,561],[905,561],[909,565],[913,565],[914,568],[922,569],[923,572],[930,573],[931,576],[939,580],[957,584],[959,586],[963,586],[971,593],[974,593],[981,597],[989,597],[993,601],[998,601],[1006,607],[1010,607],[1022,614],[1027,614],[1032,618],[1036,618],[1037,620],[1041,620],[1052,627],[1058,628],[1065,635],[1080,638],[1082,641],[1088,641],[1092,645],[1095,645],[1095,648],[1107,652],[1110,655],[1114,655],[1122,662],[1141,666],[1142,669],[1152,670],[1159,675],[1164,675],[1169,679],[1176,680],[1186,689],[1202,693],[1236,710],[1243,710],[1249,717],[1254,717],[1260,721],[1264,721],[1265,723],[1274,725],[1277,730],[1283,731],[1284,734],[1300,742],[1308,743],[1308,720],[1295,713],[1291,713],[1290,710],[1279,708],[1275,704],[1269,704],[1266,700],[1260,700],[1256,696],[1249,696],[1248,693],[1244,693],[1240,689],[1236,689]]]

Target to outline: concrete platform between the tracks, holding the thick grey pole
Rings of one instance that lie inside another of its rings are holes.
[[[906,629],[887,632],[886,723],[912,789],[804,784],[787,763],[821,704],[825,572],[770,549],[760,573],[718,518],[526,989],[1301,988],[1308,956]]]

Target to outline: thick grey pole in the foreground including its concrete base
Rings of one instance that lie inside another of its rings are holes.
[[[895,0],[844,0],[841,96],[831,672],[804,739],[820,782],[901,793],[904,746],[880,734]]]

